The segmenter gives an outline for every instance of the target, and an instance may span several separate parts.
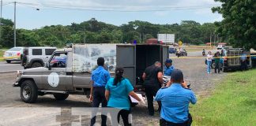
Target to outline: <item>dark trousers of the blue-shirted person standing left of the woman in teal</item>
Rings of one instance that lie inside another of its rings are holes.
[[[100,103],[102,107],[107,107],[107,100],[105,98],[105,87],[93,87],[92,91],[93,100],[92,107],[99,107]],[[96,115],[96,111],[92,112],[92,116]],[[106,113],[107,114],[107,113]],[[105,126],[107,122],[107,116],[101,115],[101,125]],[[91,119],[91,126],[96,123],[96,116]]]

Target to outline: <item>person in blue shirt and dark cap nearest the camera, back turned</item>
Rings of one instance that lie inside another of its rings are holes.
[[[162,102],[160,126],[187,126],[192,123],[189,104],[195,104],[194,92],[183,81],[183,72],[175,69],[171,73],[170,87],[160,89],[156,101]]]

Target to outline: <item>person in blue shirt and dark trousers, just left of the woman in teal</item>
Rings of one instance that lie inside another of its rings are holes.
[[[104,69],[104,57],[99,57],[97,59],[98,68],[92,72],[91,78],[91,91],[90,91],[90,101],[92,102],[92,107],[99,107],[100,103],[102,107],[107,107],[107,100],[105,98],[105,86],[107,81],[110,79],[110,73]],[[95,115],[96,112],[94,112]],[[106,125],[107,117],[101,115],[101,125]],[[96,116],[92,116],[91,126],[96,123]]]

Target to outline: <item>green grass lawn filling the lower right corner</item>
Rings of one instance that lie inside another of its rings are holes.
[[[256,125],[256,69],[230,73],[213,94],[190,106],[193,125]]]

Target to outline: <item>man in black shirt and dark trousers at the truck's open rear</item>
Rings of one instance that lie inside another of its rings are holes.
[[[148,100],[149,115],[154,115],[153,97],[160,89],[163,83],[163,71],[161,69],[160,61],[156,61],[154,65],[145,69],[142,79],[144,80],[145,94]],[[158,103],[158,110],[161,108],[161,103]]]

